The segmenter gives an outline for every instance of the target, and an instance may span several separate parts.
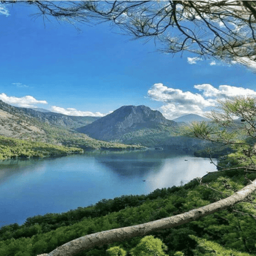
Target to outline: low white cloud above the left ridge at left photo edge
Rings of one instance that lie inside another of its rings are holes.
[[[9,97],[6,94],[0,94],[0,100],[10,105],[21,106],[22,108],[31,108],[36,104],[48,104],[46,100],[36,100],[36,98],[26,95],[24,97]]]

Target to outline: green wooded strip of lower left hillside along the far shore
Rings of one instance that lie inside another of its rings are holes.
[[[50,129],[51,131],[53,129]],[[0,135],[0,159],[8,158],[44,158],[70,153],[83,153],[84,150],[135,150],[142,149],[139,145],[124,145],[120,143],[101,142],[82,134],[72,134],[67,130],[56,130],[56,135],[47,134],[50,143],[20,140]],[[55,143],[55,144],[52,144]],[[56,145],[62,144],[61,145]],[[83,150],[84,149],[84,150]]]

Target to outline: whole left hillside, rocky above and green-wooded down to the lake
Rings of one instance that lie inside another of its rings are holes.
[[[95,140],[71,129],[96,119],[98,118],[90,116],[42,113],[17,108],[0,100],[0,158],[56,156],[74,151],[81,153],[83,150],[143,148]]]

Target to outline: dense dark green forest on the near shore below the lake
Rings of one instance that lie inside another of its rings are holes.
[[[31,217],[23,225],[1,228],[0,255],[47,253],[86,234],[150,222],[206,206],[240,190],[247,183],[243,176],[241,171],[219,172],[204,180],[210,182],[212,189],[193,180],[185,186],[158,189],[148,195],[103,199],[94,206],[79,207],[63,214]],[[254,179],[256,175],[248,177]],[[256,203],[255,194],[250,199]],[[255,255],[255,215],[255,204],[241,202],[201,220],[153,233],[153,236],[167,246],[166,255]],[[78,255],[111,255],[108,249],[116,246],[131,252],[140,241],[142,238],[138,237],[115,242]]]

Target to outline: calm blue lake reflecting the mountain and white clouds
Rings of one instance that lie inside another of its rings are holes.
[[[179,186],[214,170],[209,159],[158,150],[1,161],[0,226],[103,198]]]

